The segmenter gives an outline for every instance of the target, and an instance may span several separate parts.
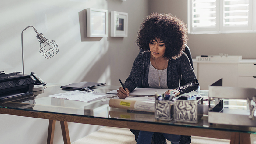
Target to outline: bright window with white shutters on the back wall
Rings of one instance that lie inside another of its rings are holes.
[[[256,0],[188,0],[189,33],[256,30]]]

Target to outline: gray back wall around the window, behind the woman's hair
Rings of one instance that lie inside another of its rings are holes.
[[[171,13],[187,22],[187,0],[149,0],[150,12]],[[243,59],[256,58],[256,33],[188,35],[192,57],[199,55],[242,55]]]

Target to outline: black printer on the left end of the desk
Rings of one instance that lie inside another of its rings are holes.
[[[21,72],[9,74],[0,71],[0,100],[8,100],[33,94],[34,79],[31,75],[21,75]]]

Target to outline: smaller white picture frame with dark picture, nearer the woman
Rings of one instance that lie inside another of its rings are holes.
[[[110,12],[111,18],[111,37],[127,37],[128,36],[128,13]]]

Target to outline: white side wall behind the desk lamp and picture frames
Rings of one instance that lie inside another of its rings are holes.
[[[128,37],[89,38],[85,33],[85,9],[128,13]],[[55,40],[59,53],[46,59],[39,53],[33,28],[23,32],[25,74],[35,72],[46,83],[105,82],[120,85],[128,77],[138,54],[137,30],[148,15],[148,0],[0,0],[0,70],[22,71],[21,32],[34,26]],[[47,140],[48,120],[0,114],[0,143],[37,143]],[[69,123],[71,142],[99,126]],[[59,122],[54,143],[63,143]]]

